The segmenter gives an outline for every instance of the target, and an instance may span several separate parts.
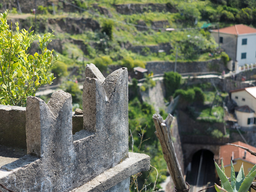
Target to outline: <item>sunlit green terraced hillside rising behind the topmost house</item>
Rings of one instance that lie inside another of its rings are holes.
[[[20,4],[23,13],[31,12],[33,6]],[[0,8],[10,8],[10,18],[21,27],[33,26],[39,33],[55,30],[52,47],[69,71],[77,68],[70,73],[72,79],[72,75],[82,78],[82,69],[90,62],[102,70],[108,65],[131,69],[152,60],[174,61],[176,49],[180,61],[220,57],[208,30],[217,28],[217,22],[219,27],[255,24],[255,4],[253,0],[42,1],[36,7],[36,22],[33,14],[18,19],[23,14],[17,16],[17,5],[9,6],[6,0]]]

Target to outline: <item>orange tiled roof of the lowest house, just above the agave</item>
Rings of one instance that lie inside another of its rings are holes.
[[[241,141],[236,141],[232,144],[240,145],[242,147],[251,149],[253,152],[256,152],[255,147],[253,147],[251,145],[247,145]],[[243,158],[244,157],[244,149],[236,147],[236,146],[232,146],[232,145],[222,145],[222,146],[220,146],[219,159],[221,159],[221,158],[223,159],[224,166],[230,165],[232,151],[234,152],[234,160],[242,159],[242,160],[250,162],[252,164],[256,164],[256,156],[251,155],[248,151],[246,151],[246,156],[244,159]],[[220,162],[219,162],[219,164],[220,164]]]

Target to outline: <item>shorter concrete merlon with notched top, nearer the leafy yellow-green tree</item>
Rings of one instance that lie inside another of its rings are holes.
[[[52,94],[48,105],[37,97],[27,98],[26,135],[28,154],[42,157],[55,152],[55,142],[72,143],[72,97],[62,90]],[[56,137],[55,137],[56,136]],[[58,143],[61,146],[61,143]]]

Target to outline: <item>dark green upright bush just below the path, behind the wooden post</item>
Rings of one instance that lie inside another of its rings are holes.
[[[166,98],[170,97],[180,87],[181,75],[177,72],[165,72],[164,84],[166,87]]]

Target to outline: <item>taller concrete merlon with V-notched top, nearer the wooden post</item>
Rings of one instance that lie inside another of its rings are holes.
[[[97,132],[106,122],[128,127],[127,68],[120,68],[105,79],[91,63],[86,65],[85,75],[89,77],[85,76],[83,90],[84,129]]]

